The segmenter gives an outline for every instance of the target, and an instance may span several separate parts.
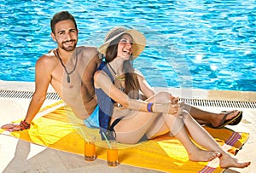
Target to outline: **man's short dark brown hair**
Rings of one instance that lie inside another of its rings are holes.
[[[58,23],[62,20],[72,20],[76,29],[78,29],[76,20],[74,19],[73,15],[68,13],[67,11],[61,11],[59,13],[56,13],[53,16],[53,18],[50,20],[51,32],[53,32],[55,34],[55,25],[56,25],[56,23]]]

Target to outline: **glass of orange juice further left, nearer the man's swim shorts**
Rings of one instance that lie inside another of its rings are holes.
[[[96,136],[87,136],[84,140],[84,160],[93,161],[96,159]]]

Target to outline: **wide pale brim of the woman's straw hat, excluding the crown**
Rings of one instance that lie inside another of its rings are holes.
[[[116,39],[117,37],[119,37],[122,34],[129,34],[132,37],[133,40],[133,44],[132,44],[132,60],[136,59],[138,55],[140,55],[143,50],[145,49],[146,46],[146,38],[144,37],[143,33],[138,32],[135,29],[131,29],[131,30],[126,30],[125,32],[121,32],[119,34],[117,34],[116,36],[108,39],[107,42],[103,43],[100,47],[99,47],[99,52],[102,53],[103,55],[106,55],[106,50],[108,49],[109,43],[111,43],[114,39]]]

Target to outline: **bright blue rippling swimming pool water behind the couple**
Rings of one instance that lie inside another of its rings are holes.
[[[34,81],[38,57],[55,48],[49,20],[68,10],[79,45],[101,45],[113,26],[143,32],[134,66],[153,86],[256,91],[255,0],[62,2],[0,2],[0,80]]]

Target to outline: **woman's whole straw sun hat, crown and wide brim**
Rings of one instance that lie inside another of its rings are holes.
[[[143,33],[138,32],[135,29],[126,29],[125,27],[114,27],[110,30],[105,37],[105,42],[100,46],[99,51],[106,55],[106,50],[108,48],[109,43],[111,43],[115,38],[119,37],[122,34],[129,34],[132,37],[133,45],[132,45],[132,60],[137,58],[143,52],[146,46],[146,38]]]

